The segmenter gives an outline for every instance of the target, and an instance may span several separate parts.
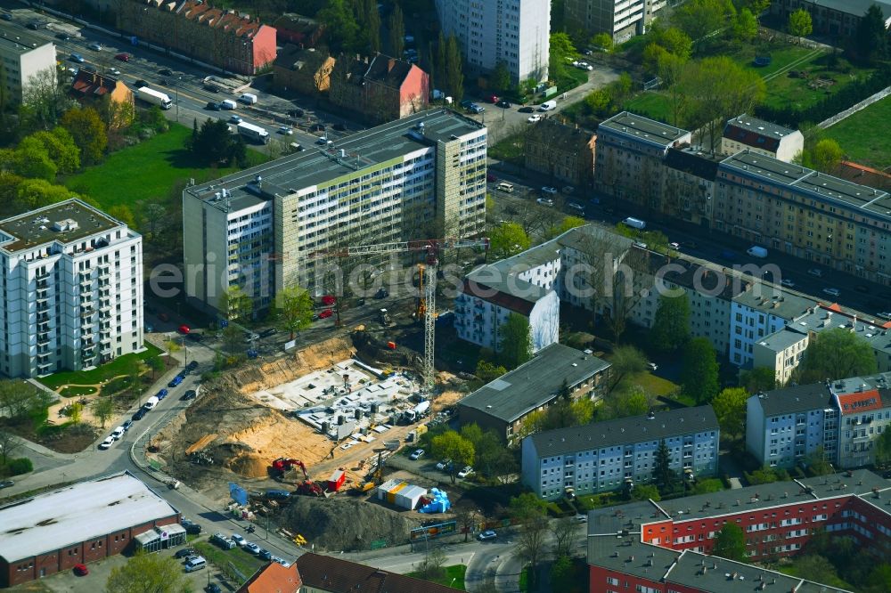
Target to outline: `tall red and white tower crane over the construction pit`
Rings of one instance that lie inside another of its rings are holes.
[[[310,259],[321,257],[353,257],[372,256],[391,253],[406,253],[412,251],[424,251],[426,257],[421,266],[421,301],[418,313],[424,317],[424,363],[421,370],[422,386],[427,393],[433,393],[435,371],[433,368],[433,353],[435,345],[436,299],[437,299],[437,267],[439,265],[439,252],[446,249],[457,248],[489,248],[487,238],[480,239],[423,239],[413,241],[397,241],[395,243],[378,243],[374,245],[360,245],[331,249],[330,251],[314,251],[309,254]]]

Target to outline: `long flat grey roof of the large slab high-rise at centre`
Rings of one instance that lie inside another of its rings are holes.
[[[424,124],[423,134],[419,134],[416,128],[421,122]],[[286,195],[291,190],[298,191],[323,184],[401,157],[413,150],[429,148],[437,142],[448,142],[453,136],[471,134],[484,127],[452,110],[421,111],[407,118],[351,134],[334,141],[331,147],[315,144],[305,146],[306,150],[301,152],[226,175],[213,182],[186,188],[185,191],[208,200],[213,199],[216,192],[225,189],[231,193],[231,207],[237,208],[242,202],[236,200],[245,195],[258,193],[261,198],[272,199],[274,195]],[[341,151],[344,154],[342,157]],[[256,191],[253,185],[257,175],[262,179],[261,191]],[[251,187],[248,189],[249,184]],[[250,203],[243,202],[247,205]],[[223,205],[221,203],[220,207]]]

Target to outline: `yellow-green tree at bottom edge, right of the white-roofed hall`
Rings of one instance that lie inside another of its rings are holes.
[[[111,569],[108,593],[188,593],[182,567],[173,556],[137,552],[126,565]]]

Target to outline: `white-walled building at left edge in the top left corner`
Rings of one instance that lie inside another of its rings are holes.
[[[52,42],[32,36],[12,23],[0,25],[0,59],[3,60],[4,102],[19,104],[28,101],[29,87],[44,85],[33,78],[56,80],[56,48]]]

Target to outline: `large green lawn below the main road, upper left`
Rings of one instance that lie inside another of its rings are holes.
[[[195,183],[203,183],[238,170],[201,167],[184,148],[191,134],[190,128],[171,124],[166,134],[110,154],[102,165],[72,175],[65,185],[103,208],[124,205],[132,209],[139,200],[166,199],[177,181],[194,178]],[[248,150],[248,158],[251,165],[267,160],[256,150]]]

